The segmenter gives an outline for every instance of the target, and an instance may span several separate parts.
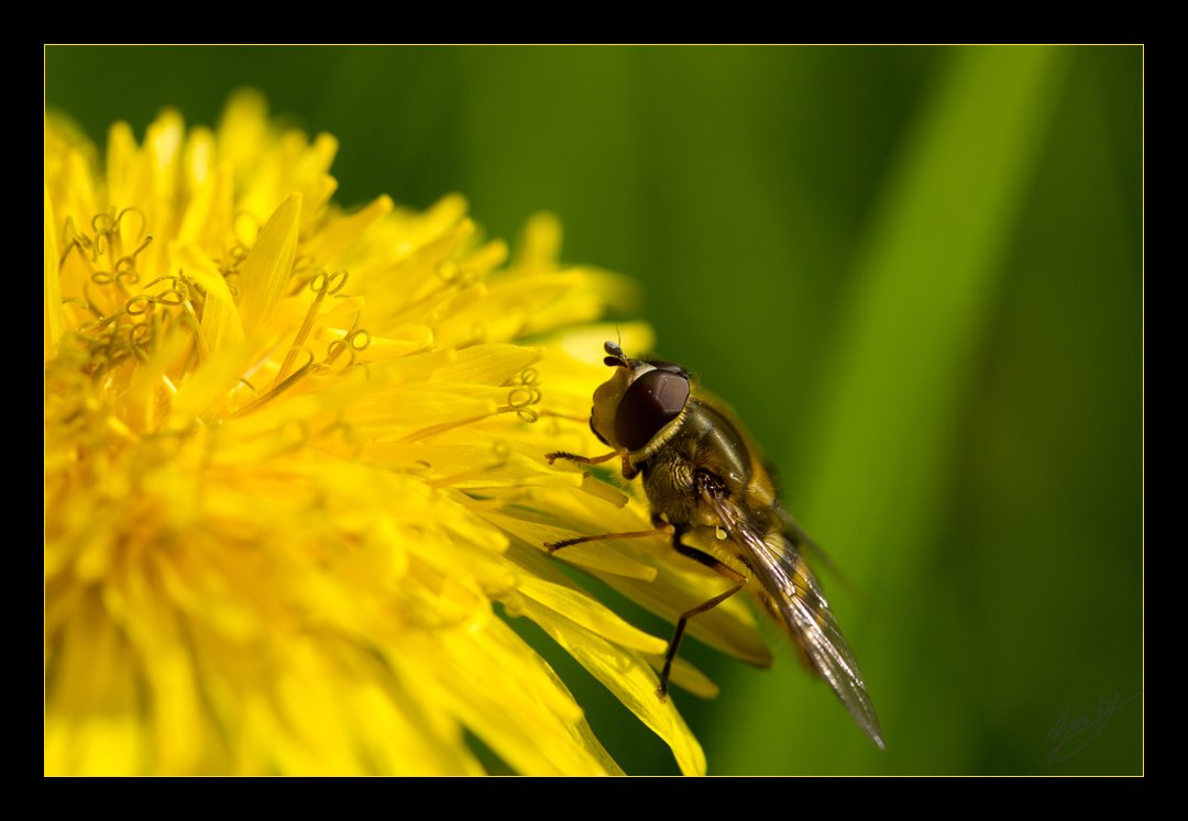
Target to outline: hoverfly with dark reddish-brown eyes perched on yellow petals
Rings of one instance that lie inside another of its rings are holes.
[[[788,630],[858,726],[885,750],[858,660],[801,556],[801,548],[815,546],[781,505],[741,424],[695,392],[689,371],[681,365],[631,359],[613,342],[604,349],[602,362],[614,374],[594,392],[589,425],[612,451],[594,458],[565,452],[546,458],[550,464],[569,459],[587,465],[620,459],[625,479],[643,477],[655,529],[568,539],[545,549],[552,554],[582,542],[669,535],[677,553],[734,583],[725,593],[681,613],[656,690],[662,701],[688,620],[757,580],[759,587],[752,586],[751,592]],[[682,541],[685,534],[699,533],[719,545],[732,562]]]

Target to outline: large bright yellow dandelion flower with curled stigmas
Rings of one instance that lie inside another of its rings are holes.
[[[544,458],[595,447],[589,323],[630,284],[560,267],[549,217],[507,263],[457,196],[345,212],[336,149],[252,93],[217,132],[118,123],[102,163],[46,120],[45,771],[481,774],[469,731],[516,772],[618,774],[498,602],[703,772],[665,639],[542,549],[646,521]],[[564,559],[670,617],[709,584],[637,541]],[[770,660],[745,610],[699,620]]]

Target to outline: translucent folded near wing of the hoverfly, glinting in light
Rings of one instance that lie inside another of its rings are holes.
[[[781,534],[765,537],[747,524],[747,516],[713,486],[702,486],[702,498],[718,514],[731,540],[747,558],[764,590],[777,602],[784,620],[800,639],[821,677],[858,726],[880,750],[886,750],[879,717],[866,694],[854,651],[841,635],[838,619],[821,587],[796,548]]]

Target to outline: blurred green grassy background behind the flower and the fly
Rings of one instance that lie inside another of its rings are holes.
[[[782,466],[861,591],[821,574],[890,749],[789,653],[688,642],[710,774],[1143,771],[1142,696],[1048,760],[1066,712],[1143,688],[1140,47],[45,51],[100,146],[241,85],[340,138],[343,204],[460,191],[512,240],[556,212]],[[541,645],[624,769],[676,772]]]

